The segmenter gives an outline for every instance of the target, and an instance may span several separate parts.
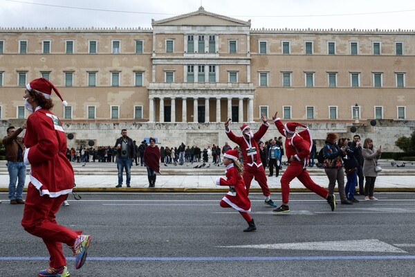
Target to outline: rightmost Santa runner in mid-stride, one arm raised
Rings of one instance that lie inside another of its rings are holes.
[[[288,197],[290,194],[290,183],[297,177],[302,184],[309,190],[317,193],[331,206],[331,211],[335,209],[335,196],[329,194],[329,190],[326,190],[322,186],[315,184],[310,178],[307,172],[307,162],[310,156],[310,150],[313,146],[313,140],[308,127],[294,122],[288,122],[284,125],[281,118],[277,118],[278,112],[273,116],[275,125],[278,131],[286,137],[285,148],[286,156],[288,158],[288,167],[281,178],[281,190],[282,190],[282,205],[273,210],[274,213],[286,213],[290,211],[288,208]],[[302,132],[295,132],[296,127],[304,127]]]

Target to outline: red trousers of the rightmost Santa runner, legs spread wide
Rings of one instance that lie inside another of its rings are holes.
[[[290,163],[286,171],[281,177],[281,191],[282,191],[282,203],[288,203],[288,198],[290,195],[290,183],[293,179],[297,177],[302,184],[309,190],[317,193],[323,198],[326,198],[329,194],[329,190],[326,190],[322,186],[315,184],[308,175],[307,170],[303,169],[303,164],[300,162]]]

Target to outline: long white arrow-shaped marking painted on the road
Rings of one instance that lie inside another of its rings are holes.
[[[326,242],[298,242],[279,244],[250,244],[221,246],[223,248],[252,248],[252,249],[288,249],[288,250],[312,250],[312,251],[351,251],[351,252],[382,252],[382,253],[407,253],[398,247],[394,247],[380,240],[344,240]]]

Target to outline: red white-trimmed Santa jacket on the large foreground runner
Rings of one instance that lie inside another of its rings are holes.
[[[30,183],[40,195],[58,197],[72,192],[73,168],[66,158],[66,136],[59,118],[37,109],[27,120],[24,162],[30,164]]]

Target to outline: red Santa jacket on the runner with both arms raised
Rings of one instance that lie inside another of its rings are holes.
[[[252,139],[245,139],[244,136],[235,136],[230,129],[225,131],[228,138],[239,145],[243,157],[243,166],[255,165],[257,168],[262,166],[261,157],[259,157],[258,141],[264,136],[269,126],[268,123],[263,123]]]

